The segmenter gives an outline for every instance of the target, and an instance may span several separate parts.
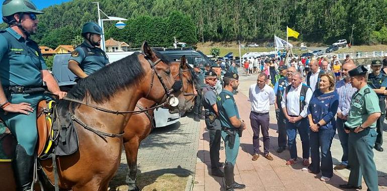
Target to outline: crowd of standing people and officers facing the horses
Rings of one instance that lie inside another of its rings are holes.
[[[356,66],[349,56],[343,62],[335,56],[331,60],[301,58],[287,62],[275,58],[254,58],[252,61],[246,59],[242,66],[244,74],[257,73],[257,83],[249,88],[250,122],[253,130],[252,160],[257,160],[260,156],[260,133],[263,136],[263,156],[273,160],[269,152],[268,130],[269,108],[270,105],[274,105],[278,125],[276,152],[283,152],[287,146],[290,154],[285,165],[294,165],[300,161],[296,147],[298,132],[302,143],[301,162],[304,166],[302,171],[314,174],[321,172],[320,180],[329,181],[333,176],[333,169],[350,169],[348,183],[340,185],[341,188],[361,189],[363,176],[368,190],[377,190],[378,178],[373,161],[373,149],[383,151],[381,145],[386,109],[387,58],[383,61],[373,60],[370,65],[372,71],[368,72],[363,65]],[[227,72],[227,75],[234,75],[230,68],[234,71],[235,63],[231,64]],[[230,103],[233,105],[230,106],[232,108],[230,110],[234,110],[233,113],[224,110],[225,114],[222,116],[218,111],[225,107],[219,104],[219,100],[222,101],[223,97],[219,99],[220,93],[215,90],[215,86],[219,81],[224,81],[220,82],[223,87],[220,92],[225,91],[226,74],[221,80],[216,72],[208,70],[204,78],[206,85],[214,89],[210,93],[211,99],[208,99],[209,90],[201,99],[203,104],[207,105],[205,111],[212,111],[209,114],[212,117],[207,117],[207,114],[205,117],[210,131],[212,174],[230,176],[226,175],[226,167],[224,174],[220,170],[224,165],[219,162],[220,137],[225,141],[226,165],[227,162],[231,162],[229,165],[235,165],[237,155],[235,147],[239,146],[239,139],[236,145],[235,137],[241,136],[245,126],[241,125],[243,120],[239,118],[233,99],[233,103]],[[235,85],[233,87],[236,89]],[[231,88],[229,91],[232,92],[234,89]],[[224,100],[233,97],[230,92],[227,91]],[[235,122],[236,119],[232,120],[235,116],[241,123]],[[232,132],[228,132],[230,130]],[[343,155],[341,163],[333,167],[330,149],[336,132],[339,135]],[[230,137],[227,136],[232,135],[234,144],[230,146]],[[241,184],[235,181],[230,182],[236,185],[229,186],[232,184],[228,184],[226,178],[227,190],[241,187]]]

